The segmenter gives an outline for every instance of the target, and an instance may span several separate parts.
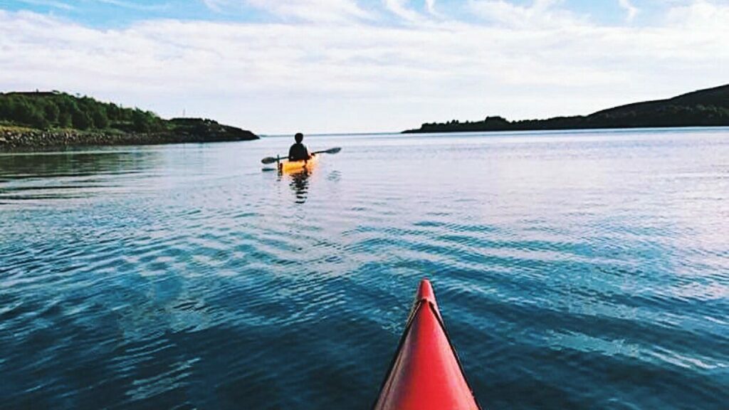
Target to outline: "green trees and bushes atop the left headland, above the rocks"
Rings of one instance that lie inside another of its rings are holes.
[[[165,120],[153,112],[58,92],[0,93],[0,121],[39,129],[151,132],[166,128]]]

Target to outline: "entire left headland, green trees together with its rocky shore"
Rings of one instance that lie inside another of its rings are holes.
[[[82,145],[249,141],[251,131],[203,118],[153,112],[68,93],[0,93],[0,150]]]

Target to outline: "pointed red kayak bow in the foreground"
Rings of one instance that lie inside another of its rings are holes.
[[[375,410],[477,410],[435,303],[423,279]]]

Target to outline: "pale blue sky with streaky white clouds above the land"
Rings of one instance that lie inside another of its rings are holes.
[[[729,83],[729,0],[0,0],[0,91],[257,134],[586,115]]]

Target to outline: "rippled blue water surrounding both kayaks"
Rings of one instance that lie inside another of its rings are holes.
[[[367,409],[432,279],[488,409],[726,409],[729,130],[0,155],[0,407]]]

